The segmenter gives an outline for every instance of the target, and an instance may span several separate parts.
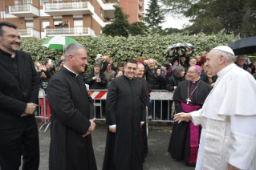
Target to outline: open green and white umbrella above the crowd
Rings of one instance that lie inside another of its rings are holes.
[[[73,38],[64,37],[64,36],[55,36],[52,38],[48,38],[46,41],[44,41],[41,46],[56,49],[59,51],[64,51],[66,47],[71,43],[78,43]]]

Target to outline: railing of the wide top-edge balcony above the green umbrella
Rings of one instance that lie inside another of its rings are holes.
[[[88,2],[46,2],[45,10],[70,10],[88,7]]]

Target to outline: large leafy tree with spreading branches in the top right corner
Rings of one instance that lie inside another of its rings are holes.
[[[181,14],[190,18],[186,26],[190,34],[226,34],[234,32],[241,38],[256,35],[255,0],[161,0],[167,7],[166,13]]]

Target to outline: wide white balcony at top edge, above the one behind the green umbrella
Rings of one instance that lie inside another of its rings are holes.
[[[91,5],[91,2],[45,2],[43,10],[51,16],[92,14],[94,7]]]

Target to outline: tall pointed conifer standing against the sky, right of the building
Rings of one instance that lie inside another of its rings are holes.
[[[147,13],[144,16],[144,22],[150,29],[160,29],[161,23],[165,22],[164,11],[161,10],[161,6],[158,4],[158,0],[150,0],[148,2]]]

